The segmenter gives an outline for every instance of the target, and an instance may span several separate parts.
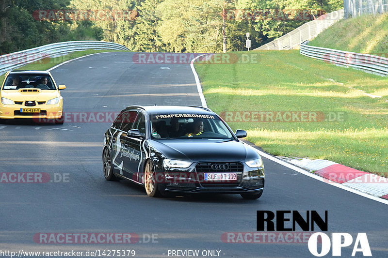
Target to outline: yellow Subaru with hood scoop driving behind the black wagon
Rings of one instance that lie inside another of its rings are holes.
[[[13,71],[5,75],[0,88],[0,120],[32,118],[63,124],[63,98],[47,71]]]

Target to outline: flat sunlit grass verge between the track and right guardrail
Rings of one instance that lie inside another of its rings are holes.
[[[258,61],[195,64],[208,106],[224,114],[232,129],[245,129],[249,141],[274,155],[327,159],[388,175],[388,78],[310,59],[298,50],[234,54]],[[259,115],[252,121],[223,113],[230,111],[322,112],[325,120],[267,121]]]

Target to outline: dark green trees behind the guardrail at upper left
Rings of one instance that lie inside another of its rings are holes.
[[[69,9],[67,0],[2,0],[0,2],[0,53],[50,43],[101,39],[101,29],[89,21],[46,20],[39,10]]]

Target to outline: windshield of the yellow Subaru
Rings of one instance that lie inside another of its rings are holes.
[[[39,74],[10,74],[7,76],[2,90],[18,90],[23,88],[56,90],[49,75]]]

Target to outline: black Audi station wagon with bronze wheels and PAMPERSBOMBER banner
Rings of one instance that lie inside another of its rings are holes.
[[[144,185],[150,197],[264,190],[264,166],[255,148],[201,106],[128,106],[105,132],[106,180]]]

